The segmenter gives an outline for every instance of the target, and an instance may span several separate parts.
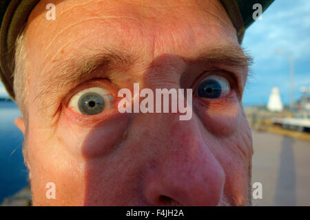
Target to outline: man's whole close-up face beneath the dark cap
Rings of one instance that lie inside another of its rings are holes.
[[[25,32],[34,205],[249,203],[247,62],[219,1],[55,1],[54,21],[48,3]],[[120,113],[118,91],[134,83],[193,89],[192,119]],[[85,94],[105,96],[104,108],[80,111]],[[45,197],[49,182],[56,199]]]

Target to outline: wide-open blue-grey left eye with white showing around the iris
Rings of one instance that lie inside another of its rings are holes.
[[[75,94],[69,107],[83,115],[96,115],[113,108],[114,97],[101,87],[83,89]]]

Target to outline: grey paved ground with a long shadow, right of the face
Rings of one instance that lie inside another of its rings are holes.
[[[253,206],[310,206],[310,142],[253,131],[252,183],[262,184]]]

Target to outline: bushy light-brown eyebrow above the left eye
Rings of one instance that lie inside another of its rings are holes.
[[[39,81],[40,89],[36,99],[41,100],[58,94],[63,88],[79,84],[81,79],[89,76],[96,69],[107,73],[111,69],[124,68],[133,61],[132,56],[115,48],[72,55],[65,61],[56,63],[50,71],[44,74],[46,77]]]

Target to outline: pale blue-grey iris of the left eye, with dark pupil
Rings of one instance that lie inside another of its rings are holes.
[[[79,110],[84,115],[96,115],[105,108],[105,101],[96,93],[87,93],[79,98]]]

